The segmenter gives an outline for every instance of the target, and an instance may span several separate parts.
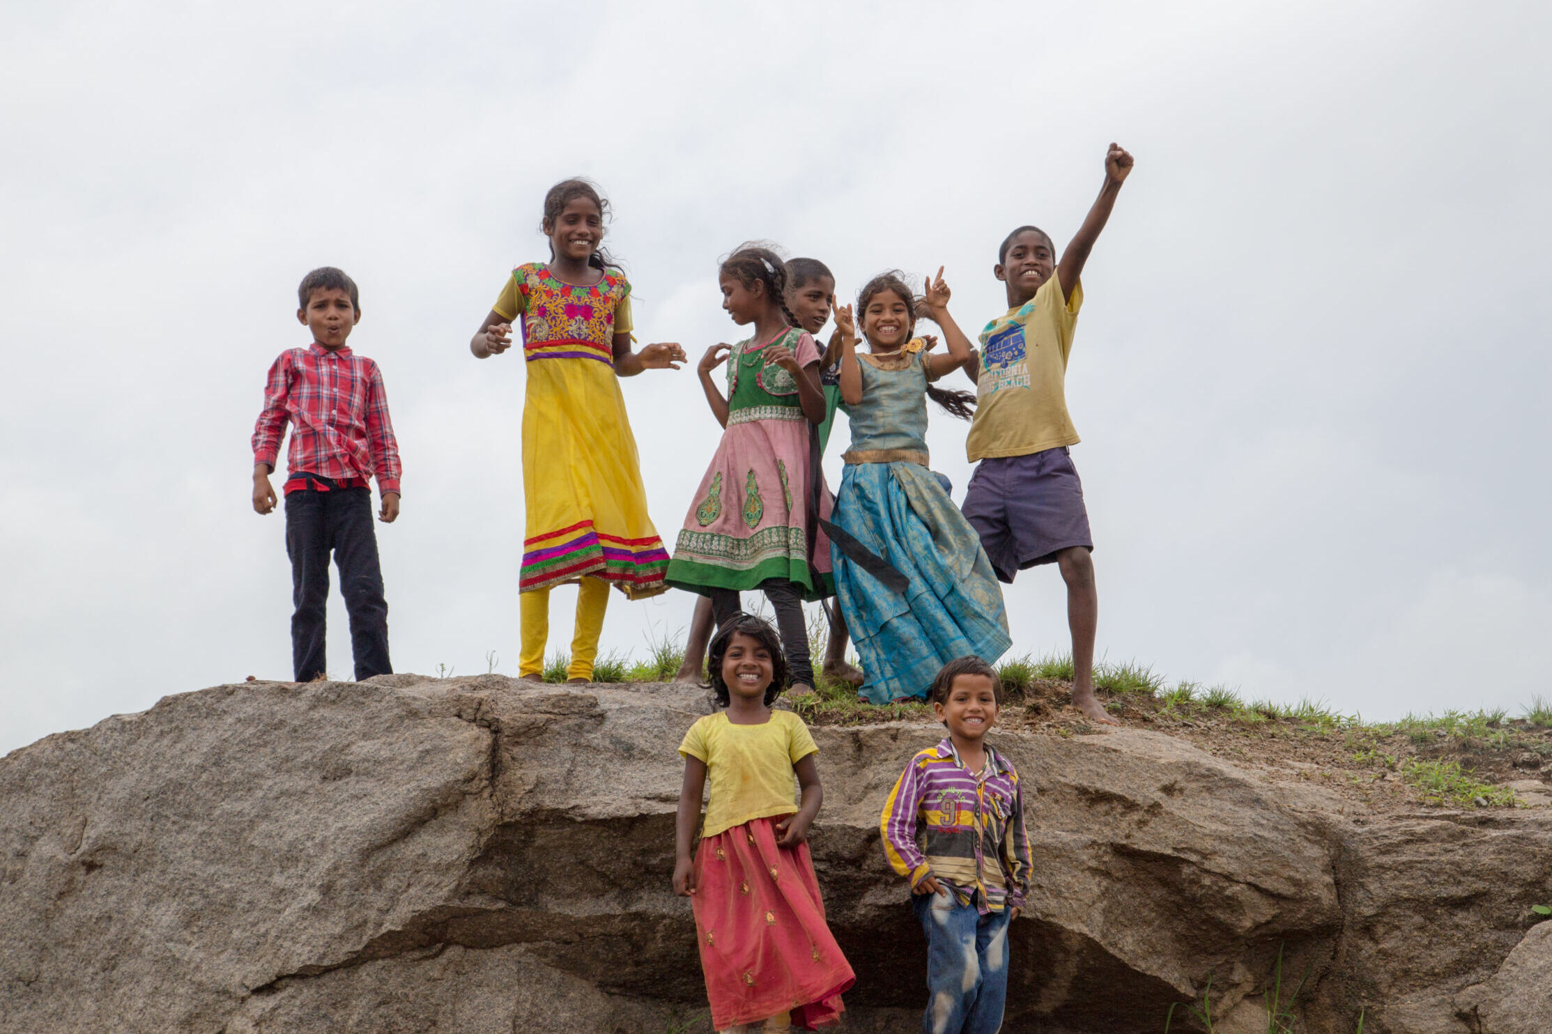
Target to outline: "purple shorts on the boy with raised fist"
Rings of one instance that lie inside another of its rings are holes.
[[[982,460],[959,509],[1004,582],[1026,567],[1051,564],[1062,550],[1094,550],[1083,483],[1066,446]]]

